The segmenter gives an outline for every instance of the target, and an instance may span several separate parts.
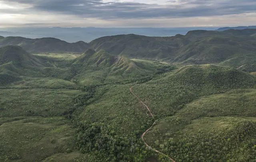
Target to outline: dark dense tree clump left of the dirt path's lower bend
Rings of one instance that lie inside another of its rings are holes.
[[[118,135],[118,125],[106,122],[79,123],[77,146],[83,153],[95,154],[101,162],[142,162],[152,156],[136,135]]]

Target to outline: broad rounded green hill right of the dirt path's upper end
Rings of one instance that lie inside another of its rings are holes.
[[[134,86],[134,92],[144,101],[150,101],[149,106],[155,115],[165,116],[174,114],[184,104],[200,96],[222,93],[232,88],[247,88],[254,84],[254,76],[234,68],[191,65]]]

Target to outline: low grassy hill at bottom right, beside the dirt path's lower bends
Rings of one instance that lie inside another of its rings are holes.
[[[254,95],[255,89],[238,89],[188,103],[160,120],[147,141],[176,161],[253,161]]]

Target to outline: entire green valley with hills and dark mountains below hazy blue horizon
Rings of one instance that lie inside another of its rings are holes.
[[[254,162],[255,33],[0,37],[0,161]]]

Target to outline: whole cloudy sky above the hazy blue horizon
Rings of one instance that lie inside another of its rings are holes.
[[[256,25],[256,0],[0,0],[0,27]]]

